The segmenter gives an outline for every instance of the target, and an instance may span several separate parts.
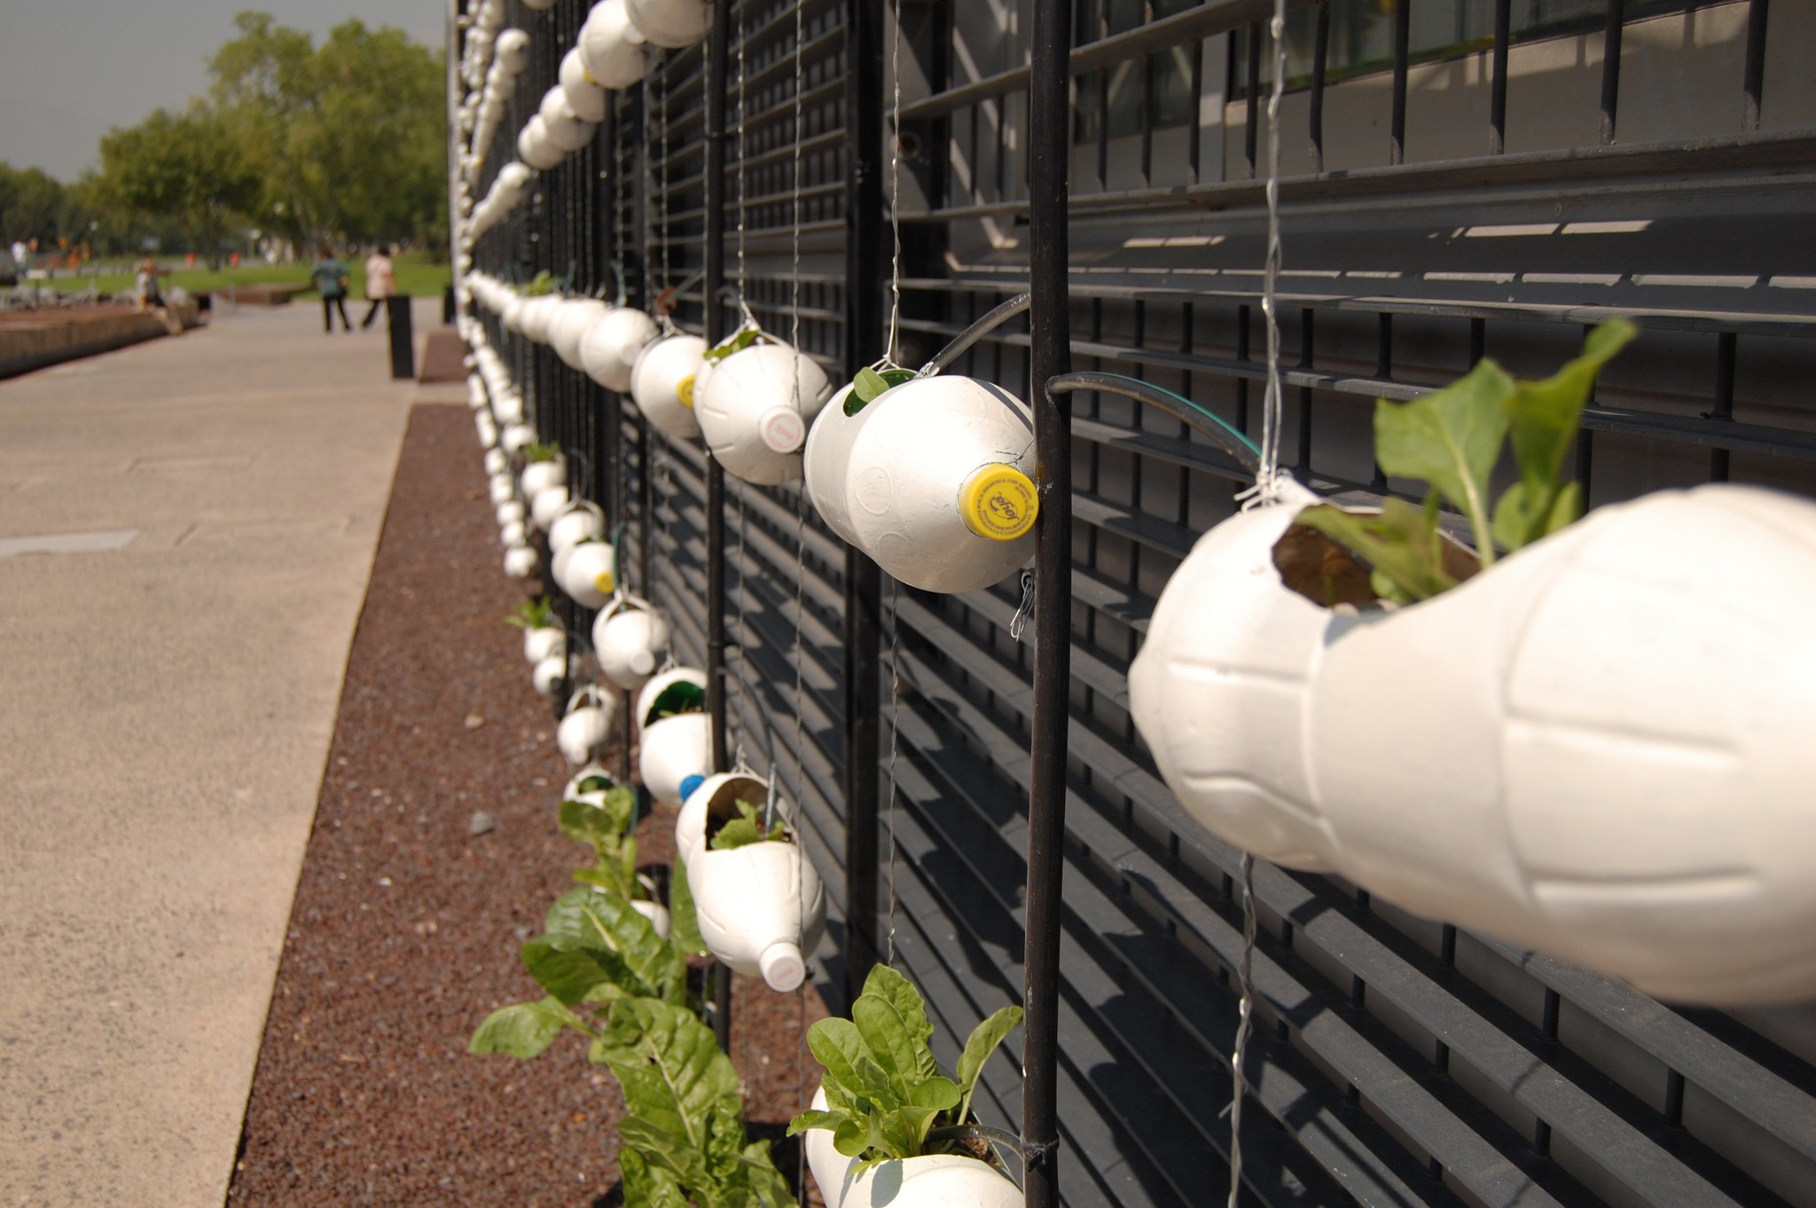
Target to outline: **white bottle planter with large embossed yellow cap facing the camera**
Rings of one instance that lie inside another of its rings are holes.
[[[930,592],[1001,583],[1033,556],[1033,416],[973,378],[915,378],[819,412],[806,492],[834,532]]]

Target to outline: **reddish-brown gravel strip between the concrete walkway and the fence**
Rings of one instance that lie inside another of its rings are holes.
[[[518,945],[585,863],[556,828],[568,768],[521,636],[501,623],[523,587],[499,561],[467,409],[416,407],[231,1206],[621,1203],[623,1101],[579,1037],[528,1063],[467,1054],[487,1012],[541,995]],[[672,857],[672,814],[643,821],[645,861]],[[732,1059],[754,1135],[779,1137],[812,1097],[819,1068],[801,1028],[821,1015],[812,990],[779,995],[737,979]],[[777,1164],[792,1172],[794,1154],[795,1143],[777,1144]]]

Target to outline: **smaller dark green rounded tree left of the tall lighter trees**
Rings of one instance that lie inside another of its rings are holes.
[[[183,114],[156,109],[134,127],[109,131],[93,194],[114,211],[176,223],[218,269],[222,242],[258,189],[243,129],[194,102]]]

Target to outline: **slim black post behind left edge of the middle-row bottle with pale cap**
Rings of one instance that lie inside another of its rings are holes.
[[[725,60],[732,40],[732,4],[712,11],[706,38],[706,343],[725,336]],[[712,767],[730,767],[725,741],[725,467],[706,454],[706,707],[712,710]],[[717,966],[712,985],[712,1030],[719,1048],[732,1041],[732,970]]]

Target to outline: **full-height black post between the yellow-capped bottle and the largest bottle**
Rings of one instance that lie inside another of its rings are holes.
[[[1071,403],[1046,383],[1071,369],[1066,294],[1071,151],[1071,0],[1037,0],[1028,80],[1030,292],[1033,294],[1035,661],[1033,785],[1028,799],[1028,1010],[1022,1144],[1028,1208],[1059,1204],[1059,928],[1066,839],[1066,727],[1071,714]]]

